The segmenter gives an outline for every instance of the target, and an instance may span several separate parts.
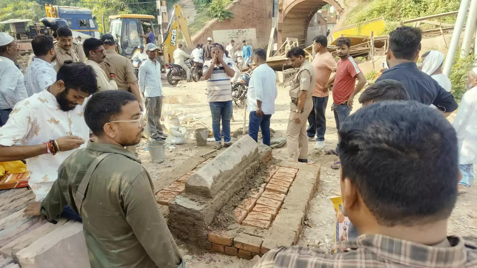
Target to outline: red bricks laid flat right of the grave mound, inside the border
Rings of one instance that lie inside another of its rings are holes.
[[[268,229],[280,210],[296,172],[297,169],[286,167],[270,170],[268,184],[262,185],[258,192],[242,201],[233,211],[237,222],[244,226]]]

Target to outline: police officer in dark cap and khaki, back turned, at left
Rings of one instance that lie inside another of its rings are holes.
[[[141,101],[141,94],[139,93],[139,85],[137,84],[137,79],[134,75],[133,63],[127,57],[116,52],[117,45],[111,34],[105,33],[100,39],[104,42],[103,46],[106,54],[105,62],[109,62],[114,66],[114,74],[116,75],[118,89],[133,93],[142,110],[143,103]]]

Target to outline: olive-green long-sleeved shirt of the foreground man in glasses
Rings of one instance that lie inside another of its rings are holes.
[[[181,255],[159,210],[151,177],[121,146],[89,142],[68,156],[41,203],[41,215],[55,222],[63,207],[78,209],[74,194],[98,155],[81,217],[91,267],[176,268]],[[79,213],[78,213],[79,214]]]

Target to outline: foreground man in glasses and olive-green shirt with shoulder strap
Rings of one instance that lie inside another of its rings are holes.
[[[65,159],[48,196],[25,214],[56,222],[62,207],[71,206],[83,219],[91,267],[184,268],[151,176],[124,149],[141,141],[145,127],[136,97],[122,90],[96,93],[84,120],[95,142]]]

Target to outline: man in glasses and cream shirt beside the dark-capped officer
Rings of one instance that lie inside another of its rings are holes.
[[[87,60],[84,61],[86,65],[93,67],[96,72],[96,79],[98,80],[98,91],[118,89],[116,84],[116,74],[114,73],[114,66],[106,59],[106,50],[104,49],[104,42],[97,38],[88,38],[83,42],[84,54]],[[104,65],[106,72],[104,72],[101,64]]]

